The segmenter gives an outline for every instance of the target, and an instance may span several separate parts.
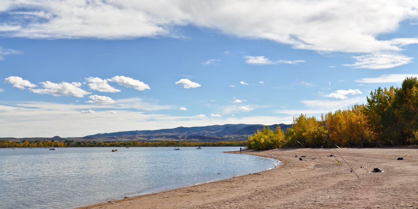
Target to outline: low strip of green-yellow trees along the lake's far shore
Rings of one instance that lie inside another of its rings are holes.
[[[65,140],[22,140],[20,142],[1,140],[0,148],[42,148],[42,147],[245,147],[247,141],[229,142],[188,142],[188,141],[161,141],[161,142],[96,142]]]

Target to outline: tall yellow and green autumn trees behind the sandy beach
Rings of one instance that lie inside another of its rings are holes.
[[[403,146],[418,143],[418,80],[406,78],[401,87],[377,88],[366,104],[322,114],[299,115],[286,133],[277,127],[257,130],[248,137],[248,148]]]

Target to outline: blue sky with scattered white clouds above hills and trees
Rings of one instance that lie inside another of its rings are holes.
[[[418,76],[414,1],[4,0],[0,137],[292,122]]]

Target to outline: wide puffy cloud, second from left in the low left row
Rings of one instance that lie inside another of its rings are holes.
[[[91,94],[92,92],[87,92],[79,87],[81,87],[80,82],[61,82],[59,84],[53,82],[40,82],[43,85],[43,89],[32,89],[29,90],[37,94],[52,94],[56,97],[59,96],[74,96],[74,97],[84,97],[84,95]]]

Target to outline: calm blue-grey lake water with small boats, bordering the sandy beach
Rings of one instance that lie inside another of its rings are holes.
[[[274,168],[239,147],[0,149],[1,209],[70,209]],[[220,174],[218,174],[220,173]]]

